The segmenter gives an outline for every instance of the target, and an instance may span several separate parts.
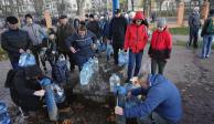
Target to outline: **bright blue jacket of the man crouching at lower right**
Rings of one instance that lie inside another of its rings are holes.
[[[145,94],[147,99],[130,108],[125,108],[126,117],[146,117],[151,112],[157,112],[164,120],[175,123],[181,121],[181,95],[176,86],[164,76],[157,74],[149,76],[150,87],[132,90],[132,95]]]

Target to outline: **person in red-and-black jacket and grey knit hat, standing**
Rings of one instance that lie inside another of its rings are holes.
[[[170,59],[172,50],[172,37],[168,31],[165,19],[159,19],[158,29],[152,33],[149,55],[151,58],[151,73],[163,74],[163,69],[167,64],[167,59]]]

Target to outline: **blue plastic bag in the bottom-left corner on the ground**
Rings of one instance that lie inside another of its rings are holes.
[[[0,102],[0,124],[12,124],[8,114],[8,108],[3,102]]]

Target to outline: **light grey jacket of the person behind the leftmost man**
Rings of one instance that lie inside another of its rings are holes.
[[[29,33],[33,45],[41,44],[43,40],[42,38],[46,37],[42,27],[35,23],[26,24],[22,29]]]

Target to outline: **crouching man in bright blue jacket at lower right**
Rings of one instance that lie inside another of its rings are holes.
[[[149,121],[152,114],[152,121],[158,124],[179,124],[182,117],[181,95],[176,86],[164,76],[139,75],[131,79],[135,85],[141,87],[133,89],[128,93],[137,96],[146,95],[146,100],[129,108],[116,106],[115,113],[125,115],[127,118],[138,117],[140,122]]]

